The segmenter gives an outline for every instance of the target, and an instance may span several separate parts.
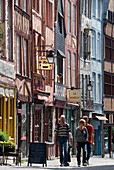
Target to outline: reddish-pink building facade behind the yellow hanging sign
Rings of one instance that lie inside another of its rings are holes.
[[[54,142],[55,109],[53,105],[54,64],[52,70],[40,67],[42,58],[54,50],[54,0],[32,2],[32,141]],[[54,156],[54,145],[52,156]]]

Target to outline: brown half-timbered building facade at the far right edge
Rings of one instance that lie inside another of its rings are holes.
[[[108,10],[104,16],[104,123],[105,153],[113,151],[114,145],[114,2],[105,5]]]

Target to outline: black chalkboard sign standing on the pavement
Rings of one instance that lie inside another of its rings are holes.
[[[29,148],[29,158],[28,158],[28,166],[29,164],[46,164],[46,143],[36,143],[31,142]]]

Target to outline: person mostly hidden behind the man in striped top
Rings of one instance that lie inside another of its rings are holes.
[[[68,145],[68,162],[71,162],[71,149],[73,148],[73,136],[72,133],[69,133],[70,143]]]

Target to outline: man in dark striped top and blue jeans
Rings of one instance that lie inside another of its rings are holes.
[[[55,144],[58,142],[60,154],[60,166],[69,166],[68,163],[68,144],[70,143],[69,133],[71,129],[65,122],[65,116],[61,115],[60,123],[55,128]],[[64,156],[63,156],[64,147]]]

